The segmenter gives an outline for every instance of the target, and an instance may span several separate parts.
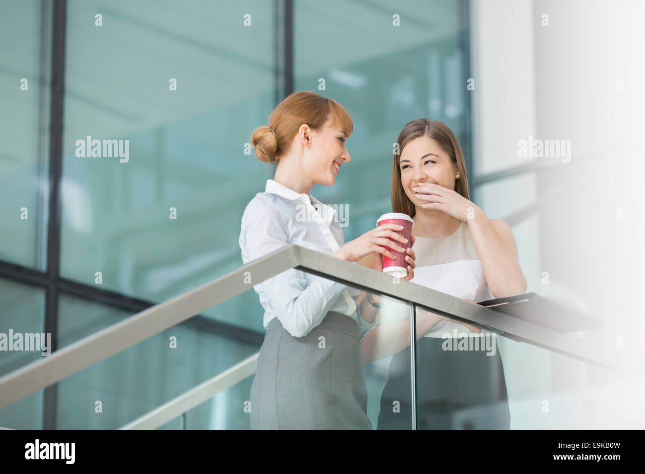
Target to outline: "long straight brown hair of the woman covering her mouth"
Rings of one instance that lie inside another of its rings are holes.
[[[457,137],[452,133],[452,130],[442,122],[430,119],[417,119],[406,124],[399,133],[397,144],[394,149],[394,161],[392,164],[392,212],[402,212],[408,214],[410,217],[415,215],[415,206],[408,199],[403,185],[401,184],[401,168],[399,168],[399,161],[401,161],[401,152],[406,144],[410,143],[415,138],[428,137],[432,138],[439,144],[441,149],[448,153],[450,160],[453,164],[457,164],[457,173],[459,178],[455,180],[455,191],[461,194],[466,199],[470,200],[468,196],[468,177],[466,177],[466,162],[464,161],[464,153],[461,151],[461,146],[457,142]],[[399,153],[397,153],[397,151]]]

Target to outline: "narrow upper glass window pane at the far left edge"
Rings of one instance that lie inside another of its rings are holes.
[[[46,263],[51,6],[3,2],[0,15],[0,259],[37,270]]]

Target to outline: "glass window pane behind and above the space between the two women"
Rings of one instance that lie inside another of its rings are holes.
[[[394,26],[385,1],[294,2],[295,90],[331,97],[353,119],[352,161],[334,186],[312,188],[326,204],[349,203],[346,241],[391,210],[393,143],[409,121],[446,123],[470,159],[463,8],[462,2],[397,4],[401,26]],[[328,25],[335,25],[333,34]]]

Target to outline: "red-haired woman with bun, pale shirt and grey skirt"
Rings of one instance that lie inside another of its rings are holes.
[[[370,253],[393,257],[390,250],[396,250],[407,253],[404,279],[414,276],[414,238],[408,242],[394,232],[402,226],[383,224],[345,244],[333,208],[310,195],[313,184],[333,186],[342,164],[350,162],[346,141],[352,131],[341,104],[303,91],[286,97],[268,126],[253,132],[257,157],[277,167],[244,210],[244,264],[289,244],[350,262]],[[372,268],[382,272],[381,258]],[[251,428],[372,429],[361,339],[377,322],[362,291],[295,269],[253,288],[265,310],[266,335],[251,388]]]

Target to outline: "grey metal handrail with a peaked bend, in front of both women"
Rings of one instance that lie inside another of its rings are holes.
[[[376,273],[370,268],[292,244],[5,375],[0,379],[0,408],[107,359],[291,268],[414,303],[419,308],[455,321],[475,324],[510,339],[528,342],[586,362],[610,367],[617,365],[617,355],[609,347],[594,348],[584,339],[576,339],[412,282],[393,281],[392,277]]]

